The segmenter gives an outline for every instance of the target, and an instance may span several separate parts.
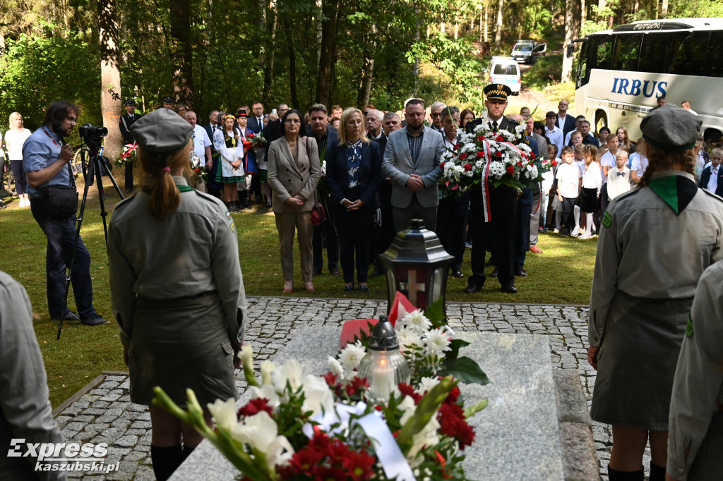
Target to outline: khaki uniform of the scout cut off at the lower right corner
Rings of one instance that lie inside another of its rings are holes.
[[[723,262],[698,282],[670,402],[668,475],[723,478]],[[689,449],[686,453],[685,450]]]

